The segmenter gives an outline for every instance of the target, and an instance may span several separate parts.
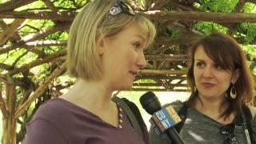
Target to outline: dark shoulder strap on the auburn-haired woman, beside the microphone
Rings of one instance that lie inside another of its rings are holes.
[[[182,130],[182,126],[184,125],[184,122],[186,121],[186,112],[187,112],[187,104],[186,102],[182,102],[182,108],[178,110],[178,116],[182,119],[182,122],[179,122],[174,128],[179,133]]]

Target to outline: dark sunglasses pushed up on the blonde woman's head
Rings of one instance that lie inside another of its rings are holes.
[[[111,6],[109,14],[115,16],[120,13],[134,15],[134,10],[126,2],[118,0],[114,3],[114,6]]]

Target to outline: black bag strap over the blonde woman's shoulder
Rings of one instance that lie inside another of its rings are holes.
[[[139,136],[142,139],[144,139],[143,132],[142,132],[142,127],[141,127],[142,125],[141,125],[141,123],[138,122],[138,119],[134,115],[134,113],[139,113],[139,111],[137,111],[138,107],[135,106],[135,104],[133,102],[128,101],[128,99],[126,99],[126,98],[118,98],[117,96],[114,96],[112,98],[112,100],[113,100],[113,102],[118,102],[122,106],[122,109],[125,110],[125,112],[128,115],[128,118],[130,119],[130,122],[133,125],[134,129],[138,132]],[[137,108],[137,110],[133,108],[133,110],[135,110],[136,112],[135,111],[133,112],[131,110],[132,105],[134,105],[133,107]]]

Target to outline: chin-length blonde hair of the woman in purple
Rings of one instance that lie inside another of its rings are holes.
[[[102,78],[102,66],[96,49],[100,38],[112,37],[134,22],[147,34],[147,46],[154,41],[154,24],[140,14],[120,13],[111,16],[116,0],[94,0],[82,8],[70,27],[67,44],[67,69],[71,76],[85,80]]]

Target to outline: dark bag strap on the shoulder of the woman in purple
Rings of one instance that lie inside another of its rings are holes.
[[[142,114],[139,112],[138,107],[134,102],[130,102],[126,98],[118,98],[117,96],[114,96],[112,101],[118,102],[122,106],[122,109],[125,110],[134,129],[137,131],[139,136],[145,140],[143,136],[143,126],[146,125],[143,121]]]

